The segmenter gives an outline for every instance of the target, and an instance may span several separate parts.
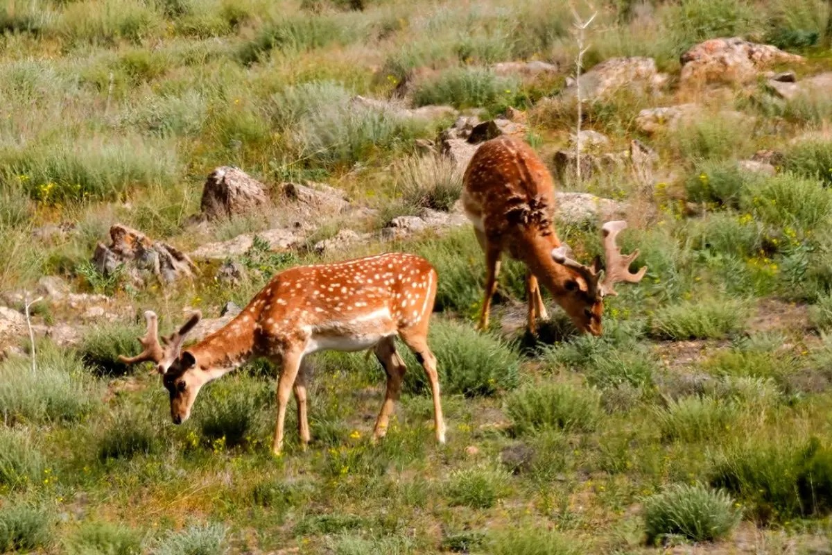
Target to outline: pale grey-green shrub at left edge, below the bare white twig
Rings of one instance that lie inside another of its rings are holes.
[[[0,362],[0,413],[12,422],[80,420],[101,403],[99,392],[81,359],[52,344],[37,349],[36,374],[28,358]]]

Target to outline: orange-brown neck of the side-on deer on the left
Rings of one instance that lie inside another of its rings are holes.
[[[254,353],[255,315],[243,310],[228,324],[186,349],[206,381],[217,379],[248,362]]]

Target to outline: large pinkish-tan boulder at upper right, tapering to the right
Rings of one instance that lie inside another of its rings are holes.
[[[740,37],[712,38],[681,55],[679,81],[681,87],[694,88],[714,82],[745,83],[772,64],[802,61],[803,57],[768,44]]]

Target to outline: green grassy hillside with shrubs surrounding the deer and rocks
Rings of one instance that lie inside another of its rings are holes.
[[[238,285],[204,264],[196,280],[136,287],[92,268],[97,243],[116,222],[190,251],[287,221],[275,203],[194,224],[206,176],[224,165],[275,194],[285,181],[339,187],[378,211],[349,222],[359,231],[425,198],[447,209],[457,169],[418,145],[453,118],[350,103],[386,99],[403,81],[415,106],[524,111],[525,138],[551,162],[575,121],[558,101],[575,71],[571,10],[530,0],[5,0],[0,293],[10,295],[0,304],[19,310],[15,293],[57,275],[76,293],[108,295],[118,316],[105,323],[47,299],[35,323],[68,324],[80,340],[38,339],[35,372],[26,334],[0,359],[0,551],[829,552],[832,101],[780,99],[763,77],[711,93],[678,82],[680,54],[711,37],[798,53],[805,62],[775,69],[799,80],[829,72],[830,5],[595,9],[585,71],[644,56],[668,80],[587,102],[582,126],[612,150],[638,139],[658,158],[648,182],[613,169],[559,188],[628,203],[623,250],[641,250],[646,278],[607,300],[602,338],[569,334],[549,299],[552,322],[534,342],[511,325],[525,306],[518,265],[504,266],[492,329],[474,331],[484,268],[468,227],[324,255],[406,250],[436,266],[430,339],[448,444],[434,443],[413,357],[389,434],[373,445],[383,371],[364,354],[318,354],[313,444],[300,451],[290,409],[286,453],[273,458],[268,365],[206,387],[176,427],[156,374],[116,355],[138,348],[143,310],[166,330],[183,310],[215,317],[273,272],[321,257],[252,250],[237,257],[250,269]],[[491,69],[515,60],[560,71]],[[691,118],[639,128],[642,109],[681,102],[695,104]],[[777,151],[775,175],[738,169],[761,150]],[[319,224],[315,240],[344,222]],[[558,232],[582,260],[601,250],[595,225]]]

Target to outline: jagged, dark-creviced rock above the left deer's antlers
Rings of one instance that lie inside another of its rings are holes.
[[[191,259],[176,247],[151,240],[141,231],[116,224],[110,228],[111,245],[99,243],[92,263],[103,275],[112,275],[124,268],[136,285],[145,285],[149,277],[161,284],[170,284],[196,272]]]

